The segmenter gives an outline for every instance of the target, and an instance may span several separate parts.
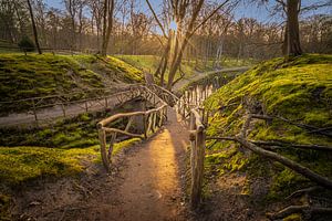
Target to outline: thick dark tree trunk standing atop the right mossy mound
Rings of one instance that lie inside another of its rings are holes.
[[[288,55],[301,55],[299,29],[300,0],[287,0]]]

